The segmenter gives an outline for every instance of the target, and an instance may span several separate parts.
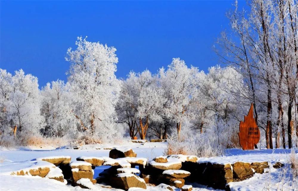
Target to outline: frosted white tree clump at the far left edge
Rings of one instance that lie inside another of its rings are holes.
[[[12,76],[0,69],[1,131],[10,132],[17,128],[16,134],[37,135],[44,126],[40,114],[40,95],[38,80],[23,70]]]

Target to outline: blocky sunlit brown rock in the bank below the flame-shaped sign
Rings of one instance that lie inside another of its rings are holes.
[[[233,165],[233,179],[242,181],[253,176],[252,165],[246,162],[235,162]]]

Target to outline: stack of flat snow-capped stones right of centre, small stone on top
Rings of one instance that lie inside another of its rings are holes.
[[[181,188],[184,186],[184,178],[190,175],[190,172],[179,170],[182,163],[177,158],[167,158],[167,156],[159,156],[149,161],[141,176],[146,183],[161,184],[165,183],[170,186]]]

